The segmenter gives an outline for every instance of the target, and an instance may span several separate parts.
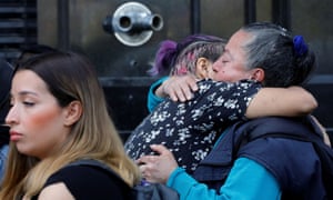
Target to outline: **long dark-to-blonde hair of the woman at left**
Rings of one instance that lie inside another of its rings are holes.
[[[73,52],[52,52],[20,63],[18,70],[37,73],[60,107],[79,101],[83,112],[60,151],[52,157],[38,160],[21,154],[13,143],[10,144],[0,199],[38,194],[52,173],[79,159],[95,159],[108,164],[129,186],[139,181],[139,169],[123,149],[109,116],[102,87],[87,59]]]

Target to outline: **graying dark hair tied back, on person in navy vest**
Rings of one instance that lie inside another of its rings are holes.
[[[265,87],[289,87],[304,83],[315,68],[315,56],[306,47],[302,54],[295,52],[292,34],[270,22],[255,22],[241,30],[252,36],[244,44],[246,68],[265,71]]]

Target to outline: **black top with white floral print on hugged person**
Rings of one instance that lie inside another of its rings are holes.
[[[132,159],[153,154],[150,144],[164,144],[180,167],[192,173],[222,131],[244,119],[248,104],[261,88],[253,81],[236,83],[202,80],[190,101],[167,99],[131,133],[124,148]]]

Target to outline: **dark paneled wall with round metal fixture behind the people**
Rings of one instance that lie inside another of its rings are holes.
[[[0,58],[12,62],[32,44],[87,54],[125,139],[148,114],[157,78],[147,70],[159,42],[199,32],[229,38],[245,23],[272,21],[314,49],[319,68],[306,89],[320,103],[313,114],[333,136],[332,10],[332,0],[1,0]]]

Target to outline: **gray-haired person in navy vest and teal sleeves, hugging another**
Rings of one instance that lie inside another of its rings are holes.
[[[213,66],[224,80],[239,79],[223,73],[224,70],[246,71],[251,73],[249,79],[262,82],[263,87],[301,86],[314,68],[315,56],[303,37],[292,37],[270,22],[255,22],[238,30]],[[309,116],[238,122],[222,133],[192,177],[178,167],[172,152],[161,144],[151,146],[158,156],[141,157],[138,163],[148,181],[167,183],[184,200],[327,199],[331,197],[324,184],[324,163],[313,141],[268,137],[242,146],[245,137],[260,129],[265,133],[319,138],[319,147],[332,151],[322,132],[314,131],[316,126]]]

